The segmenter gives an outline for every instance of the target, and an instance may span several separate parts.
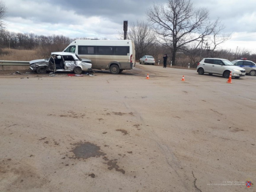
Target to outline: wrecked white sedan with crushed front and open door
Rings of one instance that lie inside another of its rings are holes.
[[[52,52],[49,59],[39,59],[30,61],[30,69],[38,74],[44,74],[47,71],[56,72],[74,72],[81,74],[83,71],[91,71],[90,61],[82,60],[75,53],[70,52]]]

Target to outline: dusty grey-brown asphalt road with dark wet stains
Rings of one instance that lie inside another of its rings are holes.
[[[256,76],[95,74],[0,76],[1,192],[255,191]]]

